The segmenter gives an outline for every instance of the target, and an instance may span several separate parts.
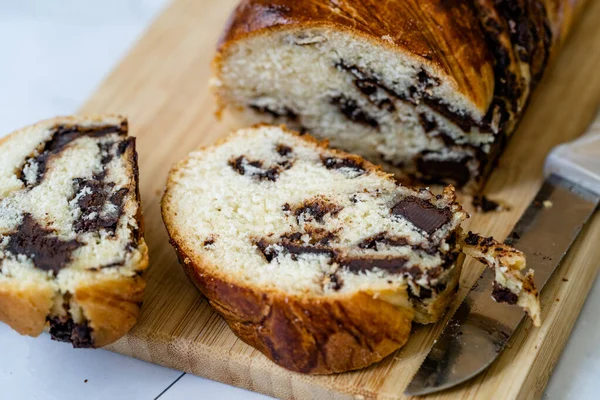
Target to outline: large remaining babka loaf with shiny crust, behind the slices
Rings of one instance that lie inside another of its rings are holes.
[[[583,2],[242,0],[212,87],[238,121],[475,192]]]

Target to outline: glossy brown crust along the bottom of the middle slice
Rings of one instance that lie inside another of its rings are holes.
[[[168,219],[165,223],[169,226]],[[228,282],[171,237],[185,272],[244,342],[280,366],[309,374],[366,367],[404,345],[412,310],[366,293],[302,298]],[[406,294],[405,294],[406,295]]]

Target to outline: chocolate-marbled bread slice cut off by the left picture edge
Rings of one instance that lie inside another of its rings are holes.
[[[117,340],[137,321],[148,265],[127,121],[40,122],[0,154],[0,321],[73,347]]]

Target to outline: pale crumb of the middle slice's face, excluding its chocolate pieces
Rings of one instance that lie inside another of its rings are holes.
[[[289,148],[286,157],[278,153],[280,146]],[[232,160],[242,156],[244,175],[231,165]],[[417,266],[423,271],[442,264],[435,251],[427,254],[414,251],[411,246],[385,244],[362,249],[358,244],[386,232],[413,245],[434,243],[437,250],[449,252],[452,249],[445,238],[466,217],[464,212],[453,213],[447,225],[429,236],[411,222],[392,216],[390,211],[402,198],[422,194],[372,169],[362,174],[351,168],[328,169],[323,162],[327,157],[339,155],[279,127],[268,126],[238,131],[218,146],[191,153],[172,170],[163,199],[163,216],[172,239],[186,249],[186,254],[195,254],[196,264],[210,274],[289,295],[394,291],[405,289],[409,282],[404,274],[378,268],[349,271],[326,254],[283,254],[269,261],[256,245],[261,238],[276,242],[283,235],[299,232],[309,245],[310,231],[323,229],[335,234],[330,246],[350,257],[403,257],[408,260],[408,267]],[[257,179],[259,170],[249,164],[255,161],[260,161],[263,169],[286,162],[291,167],[282,170],[275,181]],[[293,212],[298,205],[315,198],[326,199],[339,211],[326,214],[322,222]],[[432,202],[438,207],[449,206],[445,198],[433,197]],[[274,250],[278,250],[276,245]],[[451,270],[447,269],[438,279],[447,279]],[[334,273],[335,279],[343,282],[341,287],[332,284]],[[427,286],[437,282],[420,283]]]

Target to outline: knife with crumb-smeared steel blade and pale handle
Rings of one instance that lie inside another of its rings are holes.
[[[555,147],[541,189],[505,241],[523,251],[542,290],[600,201],[600,113],[588,133]],[[490,296],[494,272],[484,271],[406,388],[420,396],[448,389],[485,370],[521,323],[517,307]]]

